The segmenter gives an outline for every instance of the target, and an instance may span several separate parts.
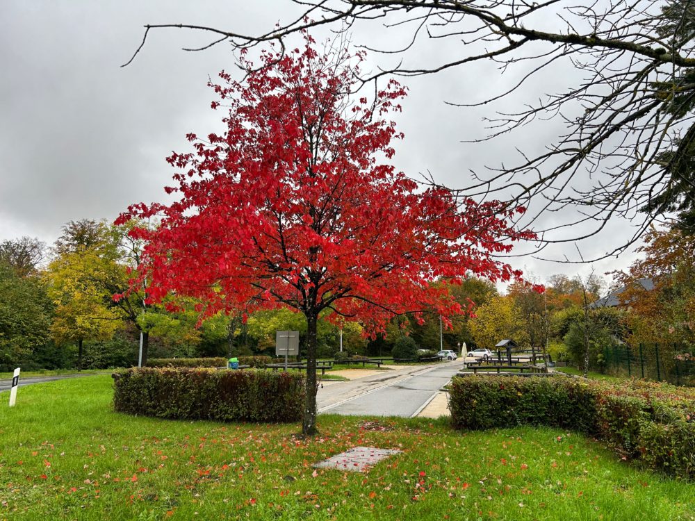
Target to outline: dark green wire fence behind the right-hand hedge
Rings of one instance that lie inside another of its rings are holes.
[[[611,374],[695,387],[695,351],[680,344],[606,347],[600,362]]]

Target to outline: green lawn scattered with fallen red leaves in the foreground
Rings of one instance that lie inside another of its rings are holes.
[[[0,393],[0,519],[695,519],[695,485],[575,433],[322,415],[300,440],[297,424],[122,415],[111,386],[28,386],[12,409]],[[404,453],[363,474],[311,467],[357,445]]]

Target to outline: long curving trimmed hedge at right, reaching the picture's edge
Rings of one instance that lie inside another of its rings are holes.
[[[450,386],[457,429],[546,425],[605,440],[652,469],[695,479],[695,390],[663,383],[464,377]]]

